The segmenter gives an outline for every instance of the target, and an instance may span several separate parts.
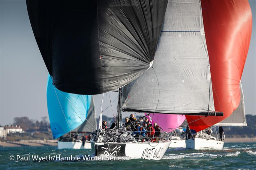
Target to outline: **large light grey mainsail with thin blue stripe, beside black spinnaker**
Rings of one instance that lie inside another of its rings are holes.
[[[168,1],[153,68],[123,87],[124,111],[167,114],[214,111],[199,0]]]

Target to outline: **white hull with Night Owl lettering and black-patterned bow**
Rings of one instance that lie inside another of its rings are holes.
[[[164,153],[170,145],[169,142],[164,143],[94,143],[91,140],[92,152],[96,156],[100,155],[113,155],[125,156],[132,159],[162,159]]]

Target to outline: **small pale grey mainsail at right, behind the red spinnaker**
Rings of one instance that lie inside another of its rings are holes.
[[[237,109],[225,120],[215,124],[216,126],[247,126],[244,109],[244,93],[240,82],[240,103]]]

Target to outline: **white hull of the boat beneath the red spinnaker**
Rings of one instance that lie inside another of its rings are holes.
[[[186,140],[186,146],[190,149],[196,149],[196,150],[218,150],[222,149],[224,145],[224,142],[213,140],[213,139],[203,139],[203,138],[192,138]]]

